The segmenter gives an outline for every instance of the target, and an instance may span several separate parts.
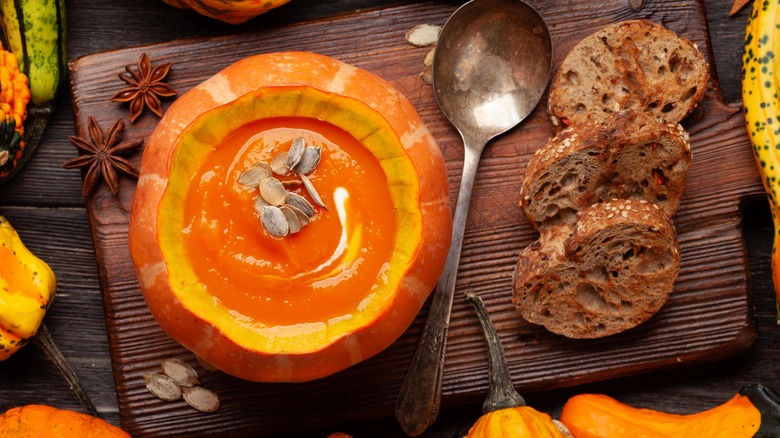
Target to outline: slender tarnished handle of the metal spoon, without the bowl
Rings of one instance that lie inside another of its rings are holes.
[[[444,368],[444,350],[447,345],[447,331],[450,324],[452,299],[455,295],[455,280],[460,264],[460,250],[463,246],[463,232],[466,228],[471,191],[479,166],[481,147],[465,147],[463,174],[460,181],[455,216],[452,220],[452,243],[447,261],[433,293],[431,308],[412,364],[406,374],[395,405],[395,416],[404,432],[410,436],[420,435],[439,414],[441,384]]]

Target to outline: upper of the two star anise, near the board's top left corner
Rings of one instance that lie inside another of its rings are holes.
[[[170,62],[152,68],[149,56],[144,52],[141,53],[136,70],[128,65],[125,66],[123,73],[119,73],[119,79],[125,81],[129,86],[119,90],[111,100],[113,102],[130,102],[130,123],[135,122],[145,107],[148,107],[158,117],[162,117],[160,98],[176,95],[176,90],[163,82],[170,69]]]

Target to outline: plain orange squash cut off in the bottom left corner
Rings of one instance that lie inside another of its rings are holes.
[[[46,405],[11,408],[0,415],[0,438],[129,438],[100,418]]]

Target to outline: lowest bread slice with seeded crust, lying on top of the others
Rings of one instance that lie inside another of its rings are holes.
[[[680,270],[674,226],[657,204],[595,204],[521,254],[513,303],[528,322],[570,338],[636,327],[664,305]]]

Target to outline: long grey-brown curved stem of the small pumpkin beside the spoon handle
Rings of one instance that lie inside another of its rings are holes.
[[[474,308],[477,310],[477,317],[482,325],[488,349],[489,387],[488,396],[485,403],[482,404],[482,410],[488,413],[499,409],[525,406],[525,400],[512,385],[512,376],[509,375],[509,368],[506,365],[504,348],[501,346],[501,340],[490,321],[485,303],[473,292],[466,292],[466,298],[474,304]]]

